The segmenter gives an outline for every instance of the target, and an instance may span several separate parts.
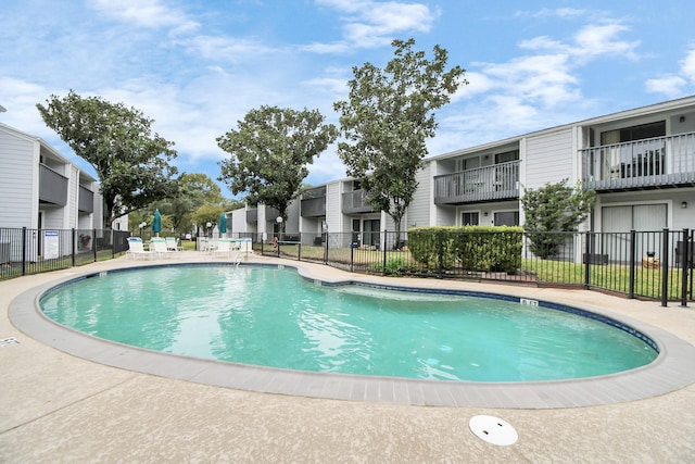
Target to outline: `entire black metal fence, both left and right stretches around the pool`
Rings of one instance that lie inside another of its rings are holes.
[[[376,231],[227,234],[264,255],[353,273],[596,289],[661,301],[693,301],[693,233]],[[72,267],[127,251],[129,231],[0,228],[0,280]],[[502,239],[501,239],[502,237]],[[416,238],[417,246],[416,246]],[[410,240],[409,240],[410,239]],[[502,240],[502,241],[501,241]]]

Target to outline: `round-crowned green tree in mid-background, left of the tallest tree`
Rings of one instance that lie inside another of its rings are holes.
[[[336,126],[324,124],[318,110],[262,105],[247,113],[238,129],[217,138],[231,155],[219,162],[219,180],[233,195],[245,193],[250,205],[276,208],[285,225],[288,205],[308,175],[306,165],[337,137]]]

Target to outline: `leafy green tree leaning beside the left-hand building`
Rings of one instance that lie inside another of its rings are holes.
[[[135,108],[74,91],[52,95],[37,109],[75,154],[94,167],[109,224],[116,217],[176,195],[173,142],[152,134],[154,122]]]

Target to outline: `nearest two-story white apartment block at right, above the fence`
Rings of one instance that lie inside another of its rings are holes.
[[[564,178],[596,191],[584,229],[695,225],[695,97],[553,127],[428,160],[413,223],[522,225],[519,197]],[[690,206],[690,208],[688,208]]]

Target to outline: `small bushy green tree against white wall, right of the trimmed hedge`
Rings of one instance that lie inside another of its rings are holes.
[[[545,260],[555,256],[567,238],[565,231],[576,231],[591,213],[596,193],[583,190],[578,183],[573,188],[565,178],[557,184],[545,184],[539,189],[523,188],[521,204],[526,215],[523,228],[529,234],[529,249]]]

